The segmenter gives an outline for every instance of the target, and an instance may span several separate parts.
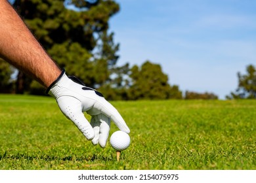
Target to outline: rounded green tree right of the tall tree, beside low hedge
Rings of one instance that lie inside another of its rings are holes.
[[[146,61],[141,67],[134,65],[131,68],[130,78],[129,99],[181,98],[179,87],[171,87],[168,84],[168,76],[161,71],[159,64]]]

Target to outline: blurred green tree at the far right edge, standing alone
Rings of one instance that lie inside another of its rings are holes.
[[[246,74],[238,72],[238,88],[231,92],[226,99],[255,99],[256,98],[256,68],[253,65],[246,67]]]

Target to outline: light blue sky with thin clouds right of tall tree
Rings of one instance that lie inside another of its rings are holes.
[[[110,20],[118,65],[160,63],[171,85],[224,99],[256,63],[254,0],[118,0]]]

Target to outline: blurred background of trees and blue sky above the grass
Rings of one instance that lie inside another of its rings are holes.
[[[108,100],[256,98],[256,1],[10,0],[49,55]],[[0,93],[45,88],[0,59]]]

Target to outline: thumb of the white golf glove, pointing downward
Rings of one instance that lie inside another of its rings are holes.
[[[95,137],[93,127],[89,124],[82,112],[81,101],[70,96],[59,97],[56,101],[62,113],[74,122],[87,140],[91,140]]]

